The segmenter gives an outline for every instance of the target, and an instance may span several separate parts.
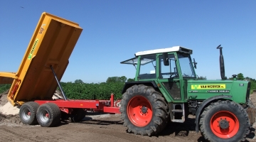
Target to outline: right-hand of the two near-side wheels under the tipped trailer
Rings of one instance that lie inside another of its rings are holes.
[[[42,104],[36,112],[36,119],[38,124],[43,127],[55,126],[60,123],[60,109],[56,104],[46,103]]]

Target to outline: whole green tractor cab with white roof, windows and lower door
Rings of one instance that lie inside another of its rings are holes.
[[[135,53],[135,58],[122,64],[131,64],[136,68],[136,82],[154,82],[167,102],[183,102],[187,99],[187,80],[196,79],[196,62],[192,62],[192,50],[180,46],[147,50]],[[128,85],[129,86],[129,85]]]

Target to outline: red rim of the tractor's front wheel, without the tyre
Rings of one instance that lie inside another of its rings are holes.
[[[221,128],[222,122],[227,122],[228,128]],[[211,117],[210,129],[219,138],[231,138],[238,133],[239,121],[230,111],[219,111]]]

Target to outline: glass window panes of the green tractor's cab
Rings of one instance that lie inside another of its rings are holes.
[[[163,55],[159,55],[159,79],[196,77],[189,54],[177,53],[178,60],[174,53],[168,55],[169,65],[164,65]],[[156,55],[143,55],[139,68],[139,80],[156,79]],[[181,72],[178,72],[178,62]]]

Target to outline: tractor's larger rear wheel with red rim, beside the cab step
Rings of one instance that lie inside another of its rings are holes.
[[[120,104],[121,119],[129,133],[152,136],[165,128],[168,105],[153,87],[144,84],[129,87]]]

